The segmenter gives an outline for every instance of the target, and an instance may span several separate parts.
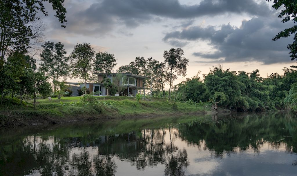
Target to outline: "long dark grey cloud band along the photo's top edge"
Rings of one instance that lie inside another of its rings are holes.
[[[79,9],[77,6],[70,6],[68,12]],[[103,0],[87,9],[70,12],[67,27],[74,33],[96,35],[121,24],[134,28],[163,18],[191,19],[225,13],[265,16],[271,12],[266,1],[259,4],[253,0],[203,0],[195,5],[181,4],[178,0]]]

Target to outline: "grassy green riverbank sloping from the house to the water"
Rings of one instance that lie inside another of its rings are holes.
[[[0,126],[26,126],[36,124],[67,123],[78,120],[111,118],[140,118],[163,115],[188,115],[210,113],[209,103],[188,104],[166,99],[142,99],[132,97],[98,96],[96,104],[82,103],[81,97],[38,99],[22,105],[19,99],[5,98],[0,108]]]

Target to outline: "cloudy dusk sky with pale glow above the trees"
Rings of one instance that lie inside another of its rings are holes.
[[[96,52],[114,54],[115,69],[138,56],[164,61],[164,50],[181,47],[189,66],[178,84],[218,64],[235,71],[259,69],[262,77],[296,65],[287,50],[293,37],[271,40],[294,24],[282,23],[271,5],[265,0],[65,0],[66,28],[50,4],[42,20],[46,41],[64,43],[67,55],[75,44],[90,43]]]

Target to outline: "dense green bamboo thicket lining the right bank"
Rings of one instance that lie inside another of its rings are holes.
[[[284,68],[284,74],[260,77],[251,73],[213,67],[204,79],[195,76],[175,86],[177,101],[211,101],[236,111],[287,110],[297,108],[296,66]]]

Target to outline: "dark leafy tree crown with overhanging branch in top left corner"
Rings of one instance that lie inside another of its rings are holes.
[[[67,22],[65,19],[66,9],[63,6],[64,0],[14,0],[0,1],[0,69],[4,66],[4,57],[7,54],[7,49],[16,50],[23,53],[27,52],[30,45],[30,40],[35,39],[38,35],[34,31],[33,22],[40,17],[36,17],[37,13],[48,16],[48,12],[43,4],[49,2],[52,8],[56,11],[56,18],[63,24]]]

